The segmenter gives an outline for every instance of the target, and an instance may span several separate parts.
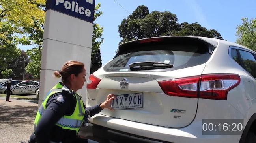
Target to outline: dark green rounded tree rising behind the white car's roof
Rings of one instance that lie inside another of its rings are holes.
[[[158,36],[204,36],[222,39],[219,32],[214,29],[207,30],[198,23],[178,23],[176,14],[170,11],[152,11],[148,7],[138,6],[131,15],[123,19],[118,32],[122,38],[121,43]]]

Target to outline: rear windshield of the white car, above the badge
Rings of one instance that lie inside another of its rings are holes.
[[[131,50],[133,49],[134,50]],[[158,67],[140,71],[172,71],[186,67],[200,65],[209,60],[211,54],[207,45],[148,45],[131,47],[120,53],[105,65],[105,71],[131,71],[129,64],[136,62],[159,62],[173,65],[173,67]],[[132,70],[134,71],[134,70]]]

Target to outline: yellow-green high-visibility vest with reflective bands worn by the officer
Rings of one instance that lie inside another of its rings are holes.
[[[34,123],[34,128],[37,127],[43,112],[46,109],[46,105],[47,105],[47,101],[49,100],[49,98],[52,95],[56,95],[58,93],[61,93],[62,90],[68,91],[69,93],[72,93],[69,89],[64,88],[60,83],[56,84],[48,93],[47,96],[45,97],[42,105],[39,107],[37,114],[36,114],[36,119],[35,119],[35,123]],[[76,107],[75,110],[73,112],[72,115],[70,116],[62,116],[62,118],[60,118],[60,120],[55,124],[59,127],[62,127],[62,129],[68,129],[68,130],[76,130],[76,133],[78,133],[80,127],[82,126],[82,123],[84,121],[84,103],[81,100],[80,96],[75,93],[73,94],[73,96],[76,97],[77,103],[76,103]]]

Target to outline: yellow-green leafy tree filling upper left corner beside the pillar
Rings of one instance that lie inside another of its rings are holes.
[[[10,75],[12,78],[21,79],[24,66],[28,64],[26,53],[17,49],[18,43],[35,44],[41,53],[45,3],[46,0],[0,0],[0,71],[13,69],[14,72]],[[19,38],[17,35],[23,36]],[[34,51],[36,50],[33,49]],[[41,54],[37,56],[31,61],[38,66],[41,63]],[[35,62],[35,59],[40,60]],[[34,66],[30,67],[34,69]],[[28,71],[33,71],[32,69]]]

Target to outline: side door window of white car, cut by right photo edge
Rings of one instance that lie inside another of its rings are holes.
[[[254,78],[256,78],[256,60],[252,53],[239,50],[243,66]]]

